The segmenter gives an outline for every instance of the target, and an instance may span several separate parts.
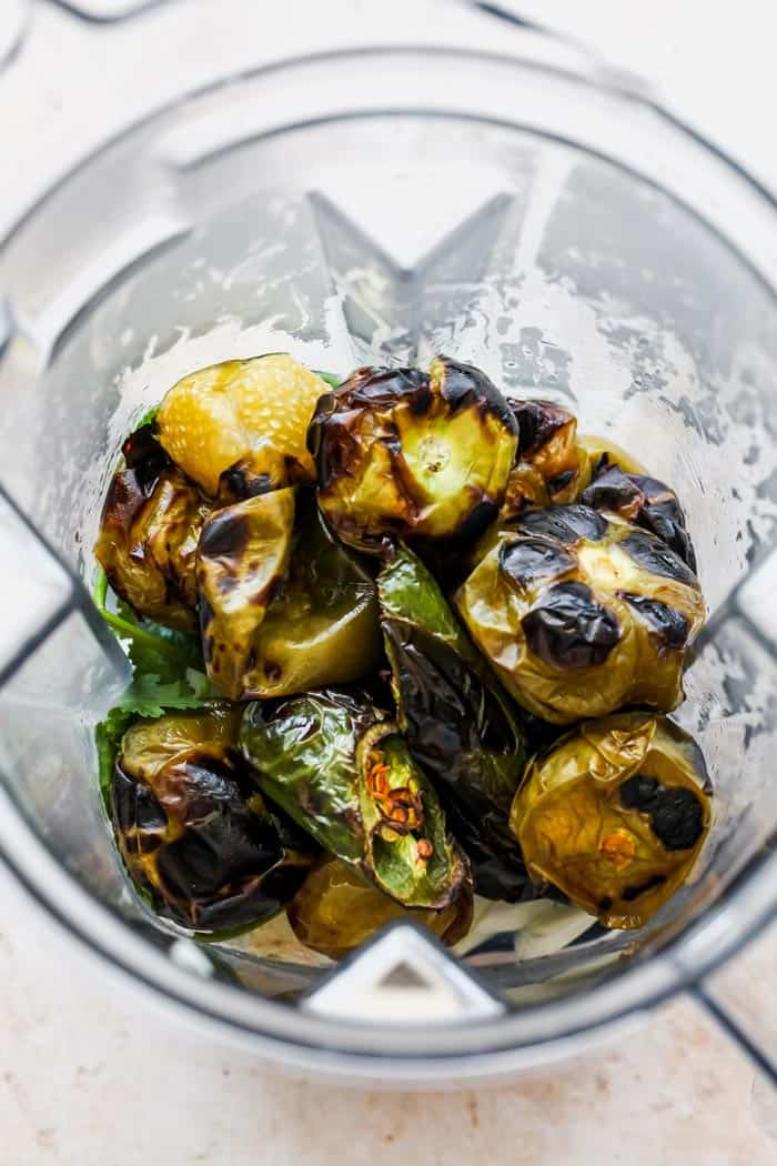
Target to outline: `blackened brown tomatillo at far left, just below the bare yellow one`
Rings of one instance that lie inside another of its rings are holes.
[[[115,593],[167,627],[196,627],[196,556],[210,505],[176,469],[150,426],[123,445],[103,508],[94,555]]]

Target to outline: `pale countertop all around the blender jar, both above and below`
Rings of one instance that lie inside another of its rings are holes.
[[[164,20],[178,7],[170,3]],[[308,7],[311,19],[324,8]],[[514,7],[658,78],[687,117],[777,188],[774,132],[762,113],[775,106],[771,5]],[[188,48],[202,54],[205,71],[235,50],[227,16],[240,9],[256,35],[271,19],[264,5],[243,0],[188,0],[186,8]],[[143,41],[140,20],[99,35],[94,54],[82,28],[41,2],[24,54],[0,75],[3,160],[14,175],[13,184],[0,182],[0,233],[44,174],[104,138],[118,111],[137,115],[174,84],[169,42]],[[132,63],[140,44],[141,87]],[[165,1016],[64,936],[2,871],[0,894],[0,1166],[777,1161],[774,1096],[687,998],[620,1042],[507,1088],[397,1095],[323,1087]],[[776,964],[771,928],[726,974],[730,990],[747,998],[754,977],[774,978]]]

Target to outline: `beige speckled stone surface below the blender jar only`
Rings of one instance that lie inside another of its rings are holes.
[[[509,1087],[365,1093],[290,1080],[203,1039],[86,956],[6,876],[0,894],[0,1166],[777,1161],[777,1103],[687,999]],[[777,933],[743,983],[776,955]]]

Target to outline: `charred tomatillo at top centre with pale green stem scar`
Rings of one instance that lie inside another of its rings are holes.
[[[318,503],[337,535],[376,552],[394,539],[474,539],[496,517],[517,424],[485,373],[437,357],[359,368],[323,396],[308,434]]]

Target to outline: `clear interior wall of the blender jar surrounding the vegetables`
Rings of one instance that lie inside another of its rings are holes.
[[[315,68],[331,77],[335,64]],[[122,437],[184,373],[289,350],[345,374],[439,351],[511,393],[571,407],[584,433],[672,483],[718,611],[777,532],[777,310],[757,272],[649,174],[561,140],[543,124],[555,106],[532,125],[536,93],[522,125],[453,101],[235,135],[234,108],[255,98],[247,82],[193,128],[181,111],[142,127],[44,204],[0,266],[16,324],[0,365],[0,477],[77,571],[91,576]],[[116,209],[105,199],[119,173]],[[31,255],[35,271],[23,266]],[[0,695],[0,770],[69,869],[148,920],[118,871],[78,701],[41,701],[40,676],[73,667],[70,635]],[[768,842],[772,659],[729,621],[687,690],[679,718],[716,791],[693,884],[638,935],[605,934],[553,904],[497,908],[479,933],[487,942],[465,944],[489,986],[528,1003],[601,976],[626,946],[645,958]],[[323,975],[280,941],[214,958],[264,995],[295,997]]]

